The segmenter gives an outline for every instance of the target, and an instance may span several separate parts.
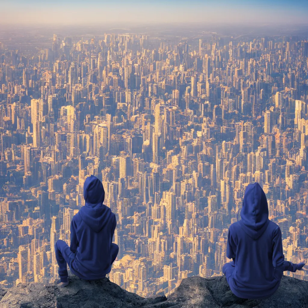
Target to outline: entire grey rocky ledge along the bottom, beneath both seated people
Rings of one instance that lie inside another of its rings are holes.
[[[225,277],[184,279],[168,297],[142,298],[107,278],[84,281],[69,277],[67,287],[31,282],[0,289],[0,308],[307,308],[308,282],[283,276],[276,293],[263,300],[236,297]]]

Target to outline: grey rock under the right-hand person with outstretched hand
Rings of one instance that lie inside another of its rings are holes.
[[[235,296],[225,276],[184,279],[168,297],[172,308],[307,308],[308,281],[283,276],[278,290],[262,300],[246,300]]]

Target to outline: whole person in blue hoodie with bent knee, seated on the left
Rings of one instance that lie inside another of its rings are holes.
[[[55,255],[59,264],[59,287],[68,285],[67,264],[73,274],[85,280],[97,280],[111,271],[119,252],[112,243],[115,214],[103,205],[105,191],[101,181],[91,175],[83,185],[85,205],[71,222],[71,245],[58,240]]]

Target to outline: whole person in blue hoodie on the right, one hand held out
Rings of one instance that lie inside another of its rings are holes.
[[[305,263],[285,261],[281,230],[270,221],[265,193],[258,183],[245,190],[241,220],[229,227],[227,257],[223,266],[231,291],[237,297],[260,299],[278,289],[284,271],[301,270]]]

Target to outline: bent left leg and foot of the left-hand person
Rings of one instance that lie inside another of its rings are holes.
[[[71,268],[72,262],[75,258],[75,253],[71,252],[70,247],[65,241],[58,240],[55,244],[55,255],[59,265],[59,276],[62,283],[61,286],[68,284],[67,264]]]

